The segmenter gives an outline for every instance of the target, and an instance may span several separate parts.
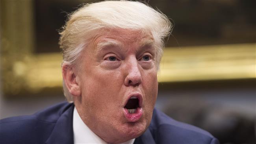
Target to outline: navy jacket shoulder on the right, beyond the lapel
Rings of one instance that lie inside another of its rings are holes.
[[[178,122],[157,109],[153,111],[149,129],[159,144],[218,144],[218,140],[207,131]]]

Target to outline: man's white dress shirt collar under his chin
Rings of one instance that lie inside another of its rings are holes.
[[[93,133],[89,127],[80,118],[76,107],[74,107],[73,114],[73,132],[74,132],[74,144],[108,144],[102,140],[98,135]],[[133,144],[134,139],[128,140],[121,144]]]

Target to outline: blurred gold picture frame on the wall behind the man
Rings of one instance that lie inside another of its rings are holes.
[[[22,12],[21,12],[22,11]],[[62,87],[60,53],[35,54],[32,1],[1,1],[2,93]],[[256,44],[165,48],[159,82],[256,78]]]

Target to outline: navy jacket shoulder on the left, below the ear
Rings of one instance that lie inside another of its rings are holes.
[[[58,103],[32,115],[15,116],[0,120],[0,141],[12,143],[44,143],[62,113],[72,104]]]

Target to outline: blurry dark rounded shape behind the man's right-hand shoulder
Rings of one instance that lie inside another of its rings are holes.
[[[255,144],[255,120],[224,105],[207,103],[196,96],[171,99],[166,114],[201,127],[222,144]]]

